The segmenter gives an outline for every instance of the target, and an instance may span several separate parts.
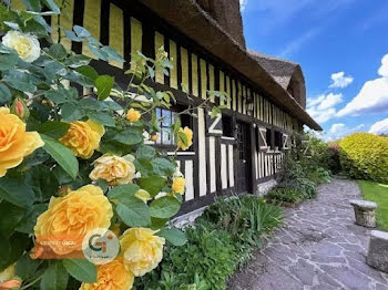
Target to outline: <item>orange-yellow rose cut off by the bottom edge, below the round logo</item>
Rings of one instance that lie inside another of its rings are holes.
[[[126,270],[123,258],[98,266],[98,281],[95,283],[82,283],[80,290],[130,290],[134,277]]]

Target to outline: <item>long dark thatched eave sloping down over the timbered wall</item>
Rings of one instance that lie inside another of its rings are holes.
[[[141,2],[182,33],[201,43],[216,58],[261,86],[275,103],[285,106],[289,114],[310,128],[321,130],[292,94],[258,63],[257,59],[206,13],[195,0],[141,0]]]

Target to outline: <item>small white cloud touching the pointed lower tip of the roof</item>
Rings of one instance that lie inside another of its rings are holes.
[[[318,123],[325,123],[337,114],[336,105],[343,102],[343,94],[323,94],[307,99],[307,113]]]

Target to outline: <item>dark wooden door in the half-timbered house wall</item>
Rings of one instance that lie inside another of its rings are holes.
[[[237,145],[235,147],[236,156],[236,191],[251,191],[251,134],[247,123],[236,123]]]

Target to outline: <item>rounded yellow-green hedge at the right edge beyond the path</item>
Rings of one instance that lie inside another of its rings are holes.
[[[339,142],[340,162],[353,178],[388,183],[388,138],[356,133]]]

